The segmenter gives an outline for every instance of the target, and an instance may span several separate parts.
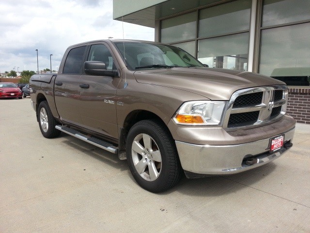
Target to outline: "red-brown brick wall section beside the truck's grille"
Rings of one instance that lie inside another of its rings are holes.
[[[298,123],[310,124],[309,88],[289,88],[287,113]]]

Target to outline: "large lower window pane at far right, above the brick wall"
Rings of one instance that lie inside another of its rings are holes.
[[[310,23],[262,30],[261,43],[261,74],[309,86]]]

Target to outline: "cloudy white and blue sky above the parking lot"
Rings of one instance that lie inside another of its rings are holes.
[[[0,0],[0,72],[59,67],[66,48],[80,42],[123,38],[113,0]],[[154,41],[154,29],[124,23],[125,39]]]

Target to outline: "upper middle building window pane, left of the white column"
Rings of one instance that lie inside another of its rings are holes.
[[[249,30],[250,0],[237,0],[200,11],[199,37]]]

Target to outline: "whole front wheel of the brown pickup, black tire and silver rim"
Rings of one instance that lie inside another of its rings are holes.
[[[160,121],[142,120],[130,129],[126,156],[133,177],[150,192],[168,190],[180,180],[181,165],[175,142]]]

